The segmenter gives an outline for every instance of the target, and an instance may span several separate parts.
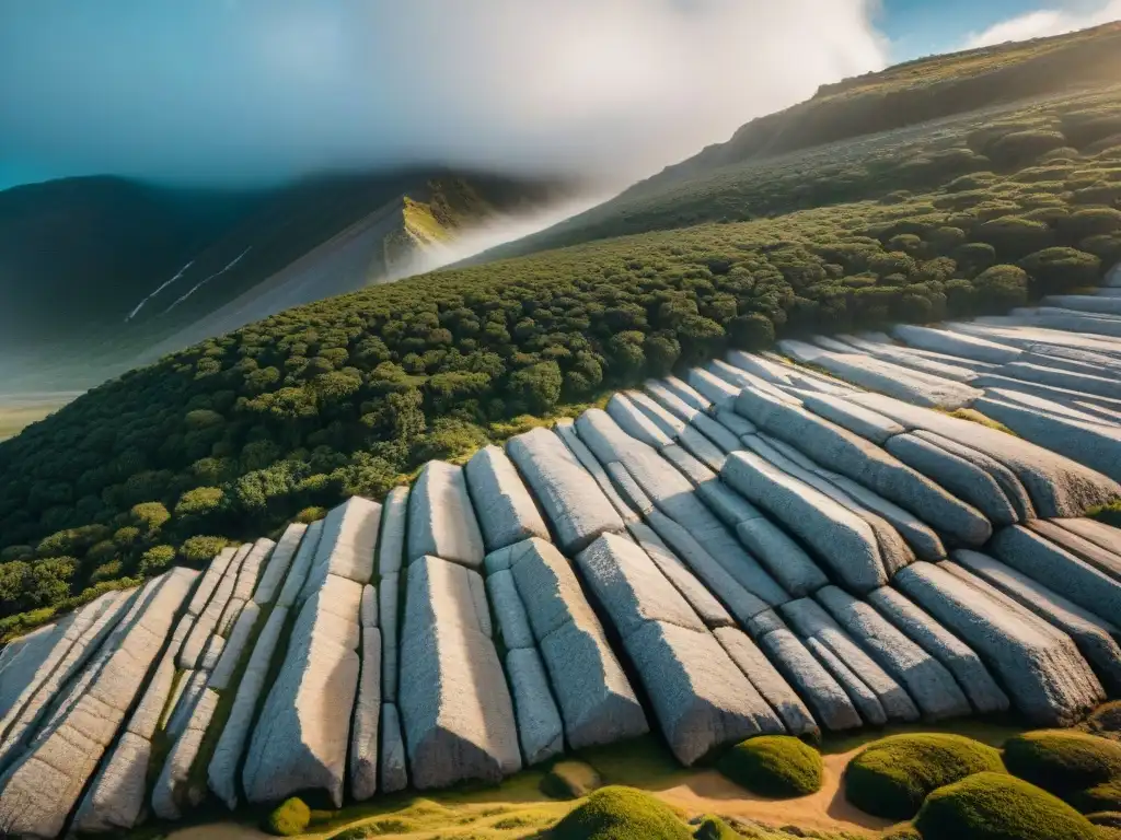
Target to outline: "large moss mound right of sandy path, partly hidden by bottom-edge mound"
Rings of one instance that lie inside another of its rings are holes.
[[[892,735],[870,744],[845,769],[844,792],[865,813],[909,820],[930,791],[974,773],[1000,773],[1000,753],[961,735]]]

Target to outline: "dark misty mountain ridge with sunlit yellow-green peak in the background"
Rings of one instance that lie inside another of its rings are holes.
[[[461,232],[565,190],[446,169],[241,193],[112,177],[9,189],[0,193],[0,353],[33,367],[62,362],[64,381],[92,383],[106,365],[392,279]]]

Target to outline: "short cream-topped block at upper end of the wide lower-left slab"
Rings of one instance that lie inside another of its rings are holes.
[[[323,534],[300,598],[317,592],[331,575],[368,584],[373,577],[380,528],[381,505],[377,502],[352,496],[333,508],[323,520]]]

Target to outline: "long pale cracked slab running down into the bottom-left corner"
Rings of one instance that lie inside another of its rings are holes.
[[[117,735],[198,578],[173,569],[149,581],[106,641],[95,679],[0,776],[0,821],[20,837],[54,838]]]

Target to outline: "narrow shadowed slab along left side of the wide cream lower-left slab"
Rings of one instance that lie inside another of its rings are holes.
[[[295,568],[293,572],[295,572]],[[245,752],[257,702],[265,691],[265,680],[268,676],[274,655],[280,642],[280,636],[288,620],[288,608],[276,606],[269,613],[265,627],[257,637],[249,662],[238,683],[230,717],[226,719],[222,735],[219,737],[207,765],[206,775],[211,791],[221,799],[231,811],[238,806],[238,764]]]

